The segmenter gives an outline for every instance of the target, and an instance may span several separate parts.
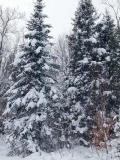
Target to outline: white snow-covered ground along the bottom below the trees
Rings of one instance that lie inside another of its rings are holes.
[[[7,152],[4,140],[0,139],[0,160],[23,160],[19,157],[8,157]],[[72,150],[64,149],[50,154],[35,153],[24,158],[24,160],[120,160],[120,158],[115,158],[115,152],[116,150],[109,149],[109,154],[107,154],[106,151],[76,147]]]

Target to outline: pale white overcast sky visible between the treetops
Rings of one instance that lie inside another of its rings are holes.
[[[35,0],[0,0],[0,5],[5,7],[18,8],[20,11],[25,12],[27,18],[32,13],[33,2]],[[71,18],[74,17],[79,0],[44,0],[45,14],[48,15],[49,23],[52,25],[52,34],[54,37],[63,33],[68,33],[71,30]],[[104,5],[101,0],[93,0],[94,5],[99,11],[102,11]]]

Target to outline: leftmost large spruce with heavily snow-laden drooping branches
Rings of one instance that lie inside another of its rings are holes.
[[[18,53],[11,75],[12,86],[7,92],[6,135],[12,154],[53,149],[52,99],[55,87],[51,76],[54,70],[46,47],[50,45],[49,28],[44,23],[42,0],[35,3],[34,14],[28,23],[28,33],[22,52]]]

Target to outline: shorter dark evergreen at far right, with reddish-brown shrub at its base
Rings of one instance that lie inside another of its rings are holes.
[[[106,12],[102,21],[97,24],[96,48],[91,56],[91,68],[89,72],[89,98],[91,104],[87,106],[86,115],[92,140],[95,142],[95,134],[102,136],[100,143],[106,143],[114,135],[114,120],[119,113],[119,43],[115,32],[114,21]],[[94,112],[93,112],[94,111]],[[91,113],[91,114],[90,114]],[[105,133],[104,129],[109,130]],[[104,134],[103,134],[104,133]],[[108,136],[108,137],[107,137]],[[97,137],[96,137],[97,138]]]

